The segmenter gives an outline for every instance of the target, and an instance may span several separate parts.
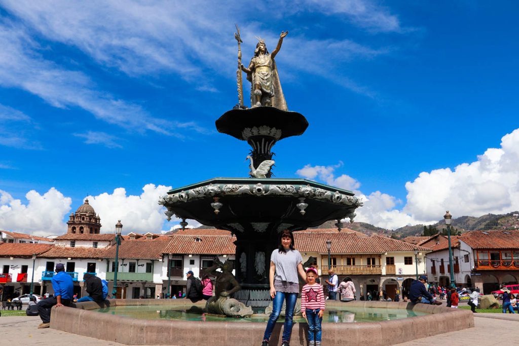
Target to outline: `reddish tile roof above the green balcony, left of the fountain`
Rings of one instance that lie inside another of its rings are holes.
[[[159,259],[166,253],[170,240],[125,240],[119,245],[119,258],[128,259]],[[106,248],[105,258],[115,258],[116,246]]]

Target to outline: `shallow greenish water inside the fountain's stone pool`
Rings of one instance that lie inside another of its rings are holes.
[[[223,317],[206,314],[198,307],[165,307],[165,306],[118,306],[92,310],[112,315],[127,316],[142,320],[177,320],[177,321],[216,321],[216,322],[267,322],[268,315],[254,314],[244,319]],[[400,320],[407,317],[422,316],[426,313],[405,309],[377,309],[377,308],[327,308],[324,312],[324,323],[348,323],[348,322],[376,322],[387,320]],[[283,323],[280,317],[278,323]],[[294,322],[306,322],[302,316],[294,316]]]

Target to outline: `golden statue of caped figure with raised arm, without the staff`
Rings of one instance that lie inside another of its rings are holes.
[[[272,53],[268,52],[265,41],[258,38],[259,42],[249,67],[245,68],[241,65],[241,70],[247,73],[247,80],[251,82],[251,107],[271,106],[288,110],[274,60],[281,49],[283,38],[288,33],[288,31],[281,32],[278,45]]]

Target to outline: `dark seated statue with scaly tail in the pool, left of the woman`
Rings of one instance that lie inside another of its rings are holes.
[[[218,268],[222,272],[216,271]],[[233,275],[233,269],[233,261],[226,260],[225,263],[222,263],[218,257],[213,259],[213,266],[206,269],[206,273],[216,276],[214,283],[215,296],[207,301],[207,312],[232,317],[245,317],[253,314],[251,307],[246,307],[242,302],[230,298],[230,295],[241,289]]]

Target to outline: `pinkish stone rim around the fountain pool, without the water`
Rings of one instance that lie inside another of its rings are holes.
[[[205,301],[190,303],[185,299],[111,299],[103,303],[76,303],[76,309],[55,307],[51,310],[50,327],[106,341],[128,345],[193,345],[231,344],[255,346],[261,342],[265,322],[227,323],[203,321],[142,320],[89,310],[115,306],[198,306]],[[391,345],[474,327],[474,316],[470,310],[453,309],[445,306],[412,304],[392,301],[326,301],[326,306],[380,309],[408,309],[428,313],[406,319],[323,323],[323,344]],[[307,345],[306,323],[294,323],[291,345]],[[282,323],[278,323],[271,337],[271,344],[281,342]]]

